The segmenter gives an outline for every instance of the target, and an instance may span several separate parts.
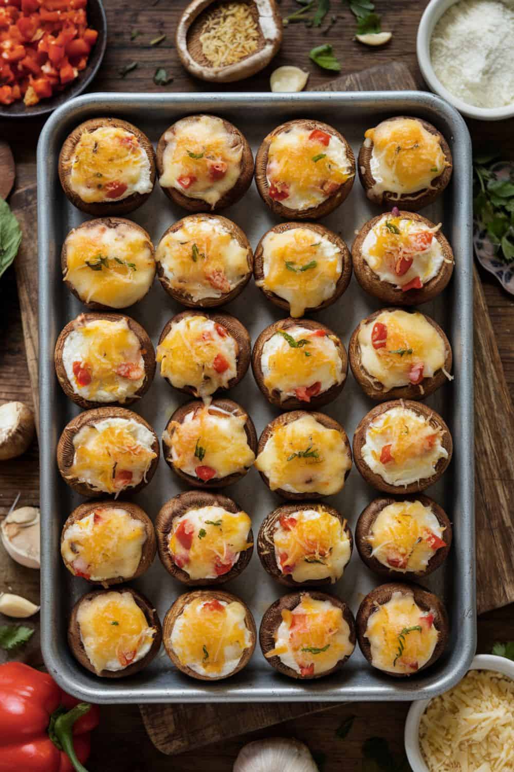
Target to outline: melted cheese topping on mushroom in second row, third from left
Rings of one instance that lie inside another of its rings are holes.
[[[291,317],[317,308],[335,292],[341,277],[341,251],[326,236],[309,228],[294,228],[264,236],[264,278],[257,286],[287,300]]]

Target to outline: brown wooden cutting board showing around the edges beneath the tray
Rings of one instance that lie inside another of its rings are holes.
[[[405,90],[416,84],[407,67],[391,63],[332,80],[320,90]],[[0,169],[0,177],[1,169]],[[18,292],[35,405],[37,381],[37,289],[34,263],[35,186],[17,191],[12,208],[24,232],[16,259]],[[509,522],[514,490],[514,410],[479,277],[475,272],[475,458],[479,612],[514,601],[514,531]],[[227,739],[333,703],[264,703],[140,706],[146,730],[163,753],[183,753],[193,747]]]

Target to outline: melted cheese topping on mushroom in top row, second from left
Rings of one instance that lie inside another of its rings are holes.
[[[240,177],[243,143],[221,118],[183,118],[164,134],[160,185],[214,207]]]

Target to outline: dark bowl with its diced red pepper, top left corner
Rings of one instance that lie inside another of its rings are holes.
[[[101,0],[0,0],[0,116],[50,113],[102,62]]]

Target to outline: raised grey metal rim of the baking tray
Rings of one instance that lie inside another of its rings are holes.
[[[261,107],[281,105],[284,111],[298,109],[303,103],[317,103],[320,107],[328,106],[334,101],[351,103],[358,107],[359,103],[367,108],[370,103],[376,104],[376,112],[384,110],[401,113],[406,108],[412,110],[427,110],[438,114],[445,120],[448,130],[452,133],[458,148],[459,162],[454,168],[454,195],[452,205],[455,207],[453,217],[459,216],[465,237],[469,243],[469,263],[462,268],[461,300],[462,306],[459,313],[462,317],[462,364],[459,375],[459,395],[455,397],[455,415],[460,415],[461,433],[459,446],[473,448],[473,341],[472,341],[472,148],[469,131],[462,116],[454,107],[446,103],[440,97],[432,93],[413,90],[395,91],[331,91],[331,92],[304,92],[295,94],[273,93],[170,93],[165,95],[146,93],[109,93],[99,92],[82,95],[59,107],[52,113],[46,122],[39,137],[37,149],[37,178],[38,178],[38,270],[39,270],[39,442],[40,442],[40,489],[41,489],[41,513],[42,532],[45,525],[52,518],[52,506],[49,501],[50,479],[52,465],[55,464],[52,452],[52,409],[49,405],[51,394],[51,381],[54,378],[53,369],[53,342],[48,340],[45,334],[46,309],[49,306],[49,272],[46,269],[45,244],[52,240],[52,228],[49,222],[49,156],[52,155],[52,137],[59,130],[60,125],[66,120],[86,120],[89,113],[94,110],[109,110],[115,112],[116,108],[126,110],[132,103],[133,109],[151,109],[153,107],[177,107],[181,103],[196,103],[198,110],[233,110],[237,108]],[[454,151],[454,161],[455,161]],[[466,171],[467,168],[467,171]],[[459,192],[457,192],[459,187]],[[460,212],[460,215],[459,215]],[[467,268],[467,269],[466,269]],[[398,692],[398,682],[380,683],[371,686],[338,685],[333,689],[323,689],[316,683],[307,685],[285,684],[271,689],[258,689],[255,686],[232,688],[230,680],[218,686],[221,689],[211,691],[197,682],[180,689],[162,689],[151,685],[139,684],[133,689],[130,685],[123,689],[116,689],[117,682],[104,684],[99,681],[97,686],[77,685],[72,679],[72,674],[62,672],[62,663],[59,660],[59,647],[52,638],[52,596],[58,587],[56,579],[55,545],[42,539],[41,562],[41,647],[45,665],[55,681],[62,689],[71,692],[79,699],[85,699],[94,703],[203,703],[203,702],[230,702],[254,703],[254,702],[341,702],[368,699],[379,701],[393,699],[398,701],[413,699],[428,699],[438,696],[442,692],[455,686],[462,679],[475,655],[476,646],[476,588],[475,588],[475,511],[474,511],[474,455],[470,458],[465,454],[458,455],[459,489],[462,495],[462,508],[466,511],[465,528],[460,533],[461,548],[459,550],[463,564],[460,571],[456,571],[464,584],[464,591],[460,592],[464,602],[462,618],[459,620],[461,631],[459,634],[460,656],[457,662],[452,663],[435,682],[429,686],[416,686],[415,682],[403,682],[403,690]],[[54,558],[52,560],[52,558]],[[455,576],[454,574],[454,576]],[[209,685],[212,686],[212,685]],[[299,686],[303,688],[299,688]],[[127,688],[128,687],[128,688]]]

